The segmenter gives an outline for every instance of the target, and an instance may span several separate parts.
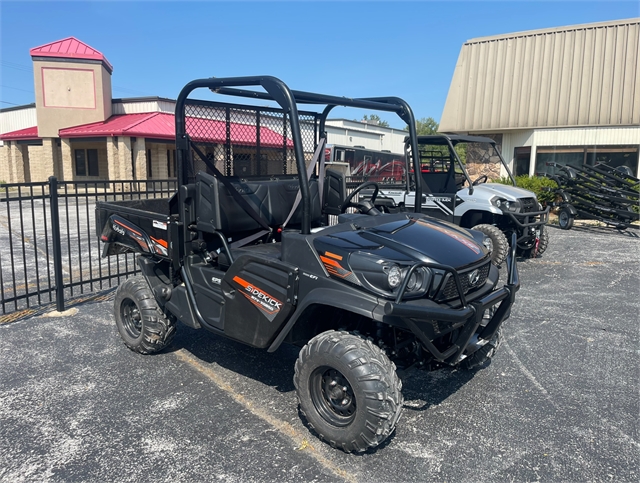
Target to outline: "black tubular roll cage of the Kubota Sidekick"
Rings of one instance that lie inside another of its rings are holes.
[[[248,89],[238,89],[238,87],[261,86],[266,92],[257,92]],[[356,107],[362,109],[372,109],[378,111],[395,112],[409,126],[409,140],[414,152],[418,152],[416,123],[411,107],[399,97],[371,97],[371,98],[349,98],[331,96],[325,94],[315,94],[312,92],[291,90],[280,79],[273,76],[247,76],[247,77],[211,77],[208,79],[197,79],[189,82],[178,96],[176,102],[176,161],[178,168],[178,185],[183,186],[187,180],[187,164],[189,159],[189,137],[186,132],[185,104],[187,97],[199,88],[206,88],[217,94],[239,96],[250,99],[261,99],[275,101],[285,114],[289,114],[291,123],[291,136],[293,138],[294,155],[298,177],[300,180],[300,194],[302,196],[302,229],[303,235],[311,233],[311,201],[309,191],[309,180],[305,176],[306,166],[304,153],[302,151],[302,136],[300,134],[300,122],[298,119],[298,104],[319,104],[325,105],[325,109],[320,115],[320,136],[326,138],[325,123],[331,110],[337,106]],[[317,139],[315,140],[318,141]],[[420,160],[414,156],[415,172],[420,172]],[[416,178],[419,178],[416,176]],[[179,190],[180,203],[183,203],[183,191]],[[422,181],[416,179],[416,199],[422,199]],[[416,204],[416,213],[421,211],[421,206]]]

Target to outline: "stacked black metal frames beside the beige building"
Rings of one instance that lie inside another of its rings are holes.
[[[553,191],[558,196],[554,205],[558,207],[560,228],[571,229],[576,218],[597,220],[619,230],[638,228],[633,223],[640,219],[640,180],[629,168],[606,164],[547,166],[557,168],[555,174],[547,176],[558,184]]]

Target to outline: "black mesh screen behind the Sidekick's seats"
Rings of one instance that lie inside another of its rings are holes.
[[[225,176],[264,177],[298,172],[290,116],[279,109],[187,101],[186,131],[192,145],[189,181],[209,172],[206,157]],[[299,112],[305,161],[316,147],[319,114]],[[199,152],[198,152],[199,151]]]

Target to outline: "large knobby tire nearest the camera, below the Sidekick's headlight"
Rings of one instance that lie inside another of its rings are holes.
[[[378,346],[327,331],[300,351],[293,383],[300,412],[323,441],[347,453],[378,446],[402,412],[402,382]]]

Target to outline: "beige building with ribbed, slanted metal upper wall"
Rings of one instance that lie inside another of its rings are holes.
[[[493,137],[515,174],[547,162],[638,173],[640,18],[471,39],[440,130]]]

